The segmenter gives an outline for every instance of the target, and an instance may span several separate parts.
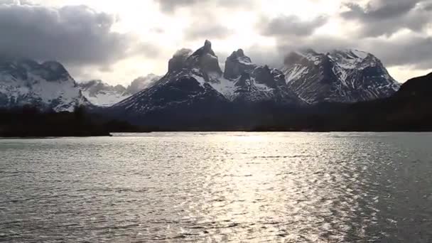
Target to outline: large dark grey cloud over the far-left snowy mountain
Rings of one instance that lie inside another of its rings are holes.
[[[131,55],[157,55],[156,48],[135,36],[112,32],[115,16],[87,6],[0,3],[0,55],[82,66],[109,66]]]

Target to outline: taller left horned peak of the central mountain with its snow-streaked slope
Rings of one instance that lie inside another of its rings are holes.
[[[131,115],[163,109],[195,107],[205,109],[205,104],[225,102],[223,95],[210,85],[222,77],[217,57],[210,41],[192,53],[187,49],[179,50],[168,63],[168,72],[154,85],[115,104],[113,109]]]

